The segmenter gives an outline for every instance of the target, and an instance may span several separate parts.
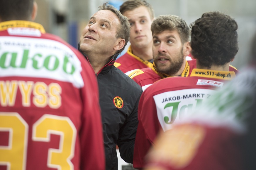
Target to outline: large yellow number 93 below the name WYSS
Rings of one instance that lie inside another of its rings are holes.
[[[7,145],[0,146],[0,164],[8,170],[26,170],[28,123],[16,112],[0,112],[0,131],[9,132]],[[72,170],[74,165],[77,129],[69,117],[43,115],[32,126],[33,142],[50,142],[50,135],[60,136],[57,148],[48,148],[47,166],[54,169]],[[28,138],[29,137],[29,138]],[[0,138],[2,140],[2,138]]]

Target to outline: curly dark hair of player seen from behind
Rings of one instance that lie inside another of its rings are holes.
[[[191,54],[200,65],[224,65],[238,52],[238,25],[221,12],[204,13],[191,23]]]

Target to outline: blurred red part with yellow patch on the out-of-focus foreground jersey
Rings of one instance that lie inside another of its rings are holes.
[[[196,123],[174,126],[157,138],[145,169],[243,169],[240,138],[225,127]]]

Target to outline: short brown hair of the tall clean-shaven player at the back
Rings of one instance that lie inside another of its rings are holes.
[[[135,8],[138,8],[140,6],[145,6],[148,9],[148,12],[150,14],[150,18],[153,19],[155,17],[155,12],[153,7],[145,0],[128,0],[125,1],[121,6],[119,11],[124,14],[126,11],[132,11]]]

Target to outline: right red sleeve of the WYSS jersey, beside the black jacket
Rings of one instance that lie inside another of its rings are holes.
[[[105,153],[101,111],[99,106],[99,91],[91,66],[86,63],[81,72],[84,88],[81,89],[83,102],[81,127],[81,169],[105,169]]]

